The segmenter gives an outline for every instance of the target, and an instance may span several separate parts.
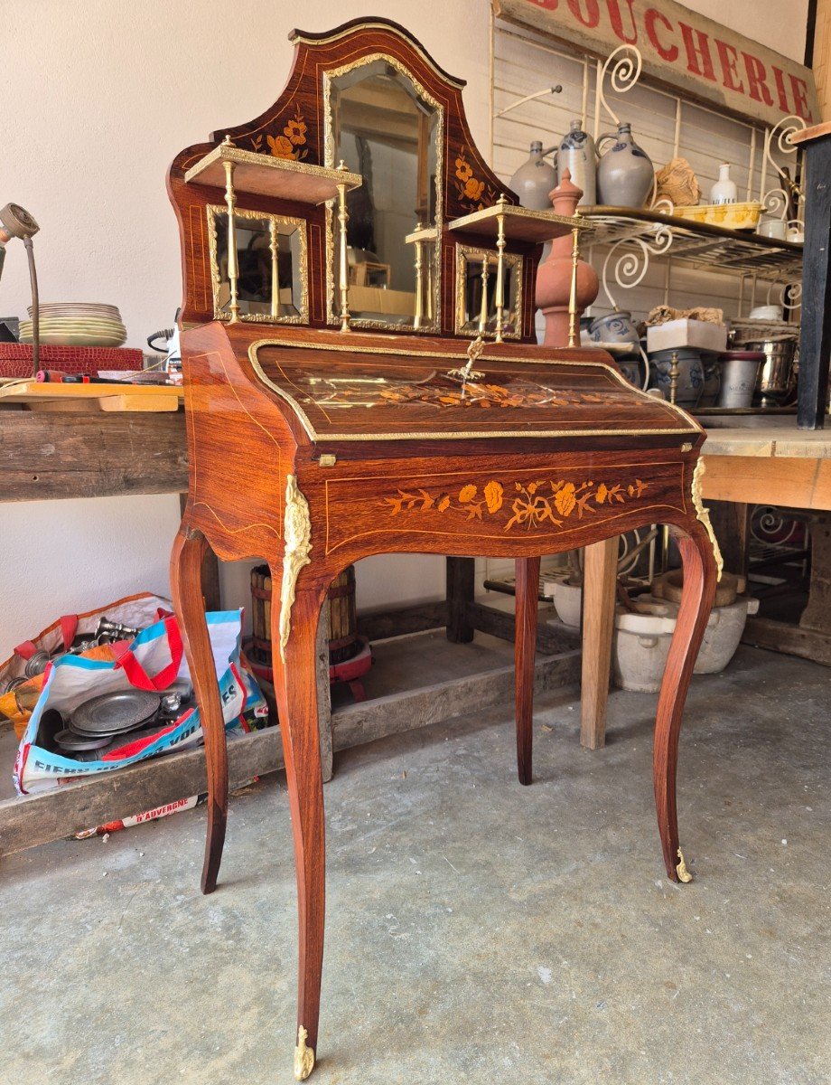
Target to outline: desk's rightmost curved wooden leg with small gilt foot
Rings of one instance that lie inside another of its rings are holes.
[[[666,873],[673,881],[690,881],[680,854],[675,805],[678,731],[692,668],[713,605],[716,566],[712,545],[703,528],[696,525],[690,534],[676,535],[676,541],[684,566],[684,589],[658,698],[652,774]]]

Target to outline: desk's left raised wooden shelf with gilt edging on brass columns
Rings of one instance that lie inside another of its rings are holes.
[[[347,191],[363,183],[360,174],[327,166],[311,166],[294,158],[275,158],[270,154],[243,151],[230,143],[220,143],[185,173],[185,181],[198,181],[218,189],[225,187],[224,163],[234,164],[234,189],[275,200],[321,204],[338,194],[338,186]]]

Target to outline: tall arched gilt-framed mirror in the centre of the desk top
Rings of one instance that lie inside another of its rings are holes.
[[[347,195],[352,323],[437,331],[443,110],[380,54],[325,73],[324,101],[326,164],[343,161],[363,177]],[[335,323],[340,226],[332,209],[326,220]]]

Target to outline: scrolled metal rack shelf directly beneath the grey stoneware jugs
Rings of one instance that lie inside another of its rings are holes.
[[[762,238],[751,231],[725,230],[674,215],[635,207],[580,207],[579,215],[595,227],[593,245],[658,240],[667,227],[672,244],[666,255],[702,268],[788,282],[802,276],[802,245]],[[663,253],[661,253],[663,255]]]

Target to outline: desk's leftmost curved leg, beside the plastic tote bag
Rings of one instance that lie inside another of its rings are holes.
[[[208,542],[202,532],[184,524],[179,529],[170,556],[170,588],[173,607],[182,629],[187,665],[199,705],[205,737],[205,763],[208,776],[208,834],[202,871],[203,893],[212,893],[225,842],[228,820],[228,748],[225,723],[217,685],[217,671],[210,650],[208,624],[203,601],[203,558]]]

